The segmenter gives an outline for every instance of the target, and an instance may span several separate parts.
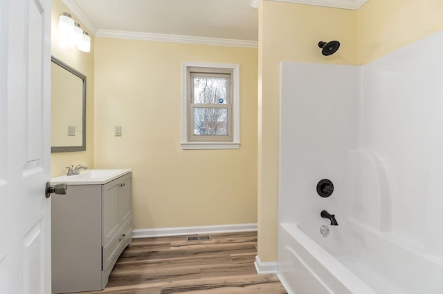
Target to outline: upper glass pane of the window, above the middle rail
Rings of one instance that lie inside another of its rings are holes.
[[[228,79],[194,77],[195,104],[226,104]]]

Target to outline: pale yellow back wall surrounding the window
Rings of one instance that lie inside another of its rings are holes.
[[[182,61],[240,64],[239,150],[181,150]],[[95,71],[94,166],[133,169],[134,228],[257,222],[257,49],[97,37]]]

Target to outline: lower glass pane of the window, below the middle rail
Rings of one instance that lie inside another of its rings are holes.
[[[228,135],[228,109],[194,108],[194,135]]]

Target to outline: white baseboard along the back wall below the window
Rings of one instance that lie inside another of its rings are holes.
[[[167,237],[208,233],[255,232],[257,224],[226,224],[219,226],[185,226],[178,228],[138,228],[132,231],[133,238]]]

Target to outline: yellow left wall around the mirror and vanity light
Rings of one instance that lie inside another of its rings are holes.
[[[66,166],[71,164],[84,164],[89,168],[93,167],[93,117],[94,117],[94,37],[89,32],[91,36],[91,52],[82,52],[73,45],[63,46],[60,42],[58,35],[58,17],[63,12],[69,12],[75,21],[79,19],[73,15],[73,13],[66,8],[61,0],[52,1],[52,32],[51,32],[51,54],[58,59],[64,61],[64,63],[69,64],[76,70],[82,72],[82,74],[87,76],[87,93],[86,93],[86,126],[87,126],[87,146],[84,152],[70,152],[70,153],[52,153],[51,154],[51,176],[62,175],[66,173]],[[85,30],[83,23],[80,22],[83,30]],[[54,86],[54,85],[53,85]],[[62,85],[60,85],[62,86]],[[53,111],[53,110],[51,110]]]

